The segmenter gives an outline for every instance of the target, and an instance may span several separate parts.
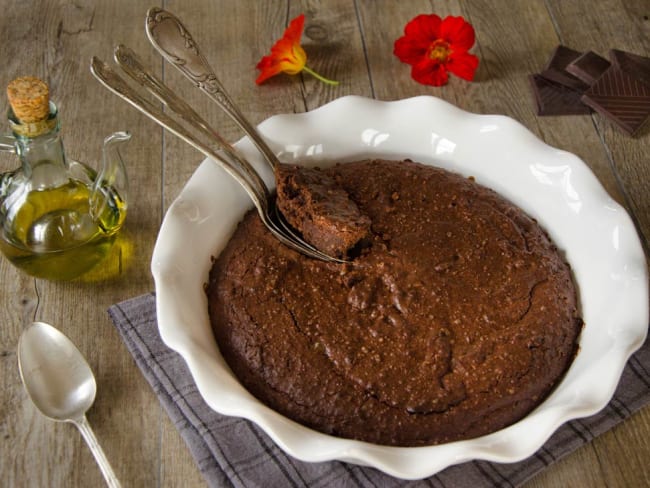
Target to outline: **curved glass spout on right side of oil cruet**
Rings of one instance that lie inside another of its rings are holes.
[[[110,206],[118,204],[123,213],[126,211],[129,184],[120,148],[129,139],[131,134],[126,131],[115,132],[104,139],[102,166],[90,195],[91,217],[100,223]]]

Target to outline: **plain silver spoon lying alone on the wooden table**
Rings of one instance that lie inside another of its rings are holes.
[[[18,368],[36,408],[52,420],[77,426],[108,486],[119,488],[120,482],[86,420],[97,383],[79,349],[51,325],[34,322],[18,340]]]

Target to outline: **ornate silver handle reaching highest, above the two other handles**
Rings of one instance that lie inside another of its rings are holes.
[[[275,170],[279,164],[275,153],[232,101],[182,22],[174,14],[153,7],[147,12],[146,30],[151,44],[235,121]]]

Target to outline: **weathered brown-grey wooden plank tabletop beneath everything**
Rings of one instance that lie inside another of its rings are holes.
[[[149,261],[164,212],[202,155],[106,91],[89,72],[97,55],[124,43],[182,91],[229,140],[241,134],[147,41],[150,1],[0,0],[0,85],[44,78],[62,114],[69,157],[97,167],[104,136],[130,130],[125,152],[131,194],[116,252],[73,282],[33,279],[0,259],[0,482],[4,486],[101,486],[100,471],[69,424],[46,420],[22,388],[16,344],[33,320],[63,330],[86,355],[98,383],[88,418],[124,486],[204,486],[188,449],[136,367],[106,309],[153,289]],[[185,21],[223,84],[254,123],[304,112],[344,95],[396,100],[427,94],[472,112],[515,118],[548,144],[571,151],[650,237],[650,128],[632,138],[598,115],[538,117],[528,78],[563,43],[606,55],[610,48],[650,55],[648,0],[204,0],[166,1]],[[340,81],[281,75],[256,86],[255,65],[289,19],[307,17],[309,64]],[[463,15],[475,27],[481,64],[474,82],[419,85],[393,56],[393,43],[420,13]],[[4,89],[0,107],[7,107]],[[2,109],[4,113],[5,108]],[[2,131],[8,132],[8,125]],[[0,155],[0,169],[17,166]],[[530,487],[650,485],[650,408],[636,413],[528,482]]]

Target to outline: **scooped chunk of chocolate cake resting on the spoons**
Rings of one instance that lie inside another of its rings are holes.
[[[369,236],[370,219],[332,176],[317,168],[281,164],[275,179],[280,212],[320,251],[345,257]]]

